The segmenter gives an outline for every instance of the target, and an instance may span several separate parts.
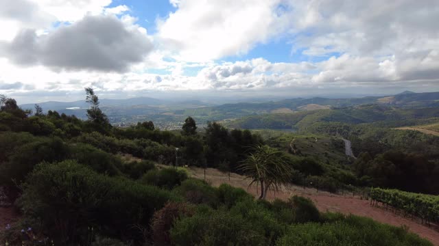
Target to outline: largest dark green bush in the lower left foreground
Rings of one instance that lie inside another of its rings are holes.
[[[61,245],[83,242],[80,232],[93,224],[108,236],[141,241],[133,225],[147,228],[155,210],[178,200],[169,191],[97,174],[76,161],[38,164],[23,188],[24,215],[39,219]]]

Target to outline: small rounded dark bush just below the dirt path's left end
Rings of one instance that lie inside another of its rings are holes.
[[[173,189],[187,179],[185,170],[176,168],[152,169],[141,178],[143,184]]]

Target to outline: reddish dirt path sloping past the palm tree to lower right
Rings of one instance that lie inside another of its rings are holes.
[[[189,174],[193,178],[204,179],[204,169],[190,168]],[[230,184],[234,187],[240,187],[248,189],[248,180],[243,180],[243,176],[237,174],[230,174],[230,181],[228,174],[219,172],[217,169],[206,169],[206,180],[213,186],[217,187],[222,183]],[[253,195],[258,194],[256,187],[250,187],[249,193]],[[342,195],[335,195],[325,191],[318,191],[316,189],[305,190],[302,187],[292,186],[289,188],[283,188],[282,191],[274,193],[271,191],[267,195],[268,200],[274,200],[275,198],[287,200],[292,195],[302,195],[309,197],[316,204],[317,208],[322,212],[338,212],[346,215],[353,214],[364,217],[370,217],[381,223],[388,223],[393,226],[408,226],[411,232],[420,235],[423,238],[427,238],[434,245],[439,246],[439,231],[423,226],[416,221],[412,221],[409,218],[404,218],[399,215],[395,215],[390,210],[384,208],[378,208],[370,206],[370,202],[367,200],[361,200],[358,197],[344,197]]]

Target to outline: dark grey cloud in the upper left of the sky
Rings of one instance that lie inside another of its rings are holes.
[[[12,42],[0,43],[0,55],[15,64],[42,64],[55,70],[124,72],[152,49],[145,33],[115,16],[85,16],[41,36],[25,29]]]

